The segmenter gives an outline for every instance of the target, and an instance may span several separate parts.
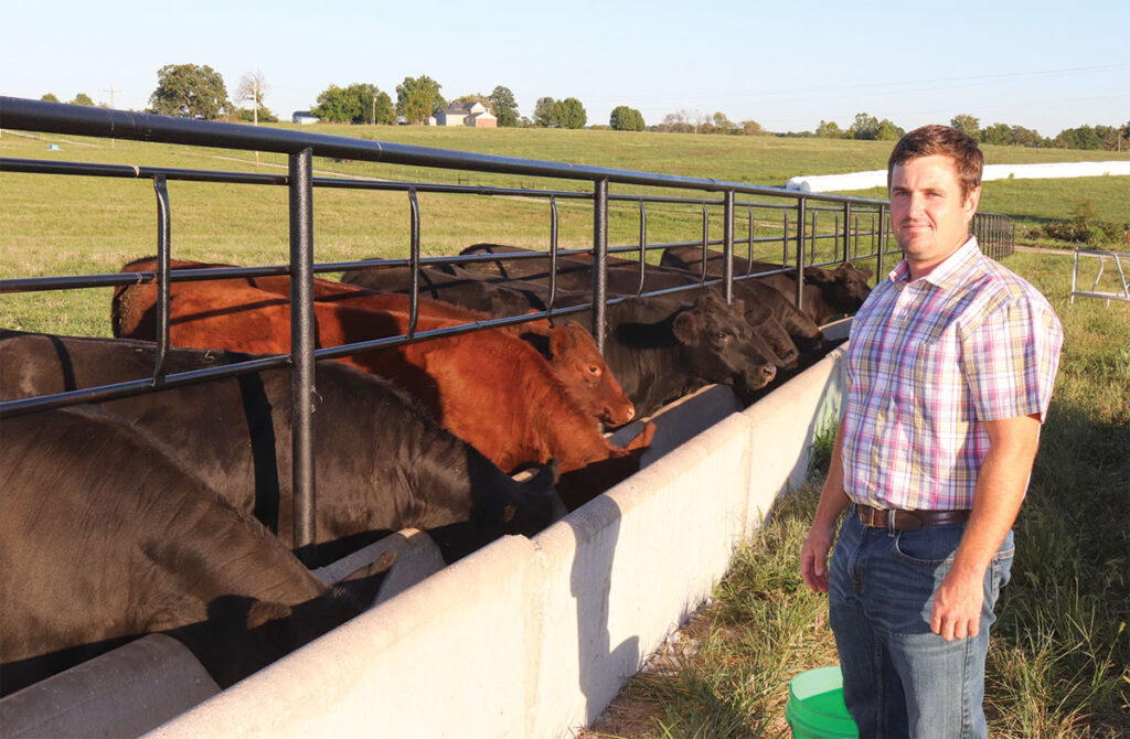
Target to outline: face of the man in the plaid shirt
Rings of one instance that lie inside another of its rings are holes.
[[[896,164],[890,173],[890,224],[913,278],[927,275],[965,243],[981,188],[962,197],[951,157]]]

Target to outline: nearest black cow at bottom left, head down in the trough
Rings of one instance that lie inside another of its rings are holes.
[[[364,610],[391,564],[327,588],[164,444],[92,407],[6,419],[0,477],[6,694],[155,632],[227,687]]]

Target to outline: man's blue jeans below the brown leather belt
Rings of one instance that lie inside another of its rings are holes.
[[[863,527],[854,512],[832,555],[828,610],[860,739],[988,737],[985,654],[1012,566],[1012,532],[985,572],[980,633],[947,642],[930,631],[930,611],[965,524],[892,533]]]

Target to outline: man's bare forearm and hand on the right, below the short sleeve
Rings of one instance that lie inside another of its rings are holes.
[[[980,631],[984,574],[1020,512],[1040,445],[1037,414],[984,425],[989,453],[977,475],[973,511],[930,615],[930,628],[946,641],[976,636]]]

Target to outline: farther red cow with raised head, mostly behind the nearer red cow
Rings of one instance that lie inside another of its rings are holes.
[[[172,260],[172,269],[201,269],[232,267],[232,264],[203,263]],[[139,259],[125,264],[123,272],[145,272],[157,269],[156,258]],[[289,296],[290,278],[286,275],[271,277],[231,278],[205,280],[216,286],[255,287],[268,293]],[[200,282],[197,282],[198,285]],[[173,282],[171,292],[176,293],[183,282]],[[314,279],[314,299],[325,304],[349,305],[381,312],[407,314],[409,297],[399,294],[372,293],[351,285],[333,280]],[[111,320],[114,336],[130,336],[151,339],[156,325],[157,287],[154,284],[122,286],[114,290]],[[461,323],[490,320],[493,316],[469,308],[419,298],[418,330],[446,328]],[[565,385],[574,402],[584,412],[611,426],[623,426],[635,417],[635,408],[624,393],[616,377],[608,370],[597,342],[581,324],[550,328],[548,321],[498,329],[522,336],[533,342],[547,344],[546,353],[558,380]],[[402,331],[401,331],[402,332]],[[374,336],[394,336],[376,333]],[[548,338],[548,340],[547,340]]]

